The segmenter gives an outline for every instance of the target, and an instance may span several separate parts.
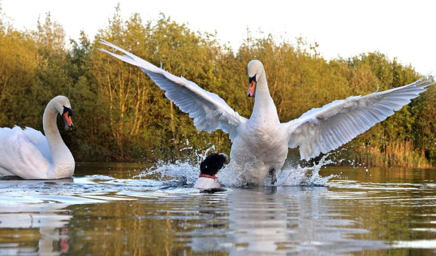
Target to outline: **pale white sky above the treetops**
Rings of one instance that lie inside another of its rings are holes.
[[[193,31],[216,31],[222,44],[234,50],[247,35],[271,33],[275,38],[302,36],[318,42],[318,52],[327,59],[348,58],[379,51],[390,59],[411,65],[418,72],[436,74],[436,1],[170,1],[170,0],[0,0],[3,12],[16,29],[35,29],[38,17],[50,12],[68,38],[80,30],[93,38],[105,28],[120,3],[124,20],[140,13],[144,21],[164,13],[187,24]]]

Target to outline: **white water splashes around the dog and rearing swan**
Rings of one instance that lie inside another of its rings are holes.
[[[186,149],[187,150],[187,149]],[[152,179],[162,182],[170,187],[192,187],[200,174],[200,163],[206,158],[210,151],[215,151],[215,146],[200,152],[195,151],[195,159],[177,160],[175,163],[158,161],[155,166],[145,169],[140,175],[133,178]],[[335,177],[330,175],[321,177],[319,172],[327,164],[335,163],[332,159],[327,159],[330,154],[321,158],[318,164],[313,166],[301,167],[300,165],[290,164],[283,167],[281,173],[277,174],[277,182],[274,186],[327,186],[327,182]],[[340,160],[341,161],[341,160]],[[244,173],[255,162],[255,158],[247,161],[245,166],[237,166],[232,161],[218,173],[220,183],[225,187],[241,187],[247,185]],[[267,177],[263,183],[270,186],[271,178]]]

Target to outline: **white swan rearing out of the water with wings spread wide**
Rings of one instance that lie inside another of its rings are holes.
[[[262,184],[268,173],[274,176],[274,170],[282,168],[288,147],[300,146],[301,159],[305,160],[334,150],[400,110],[434,83],[427,75],[403,87],[336,100],[297,119],[280,123],[259,60],[248,63],[247,94],[255,96],[255,100],[251,117],[247,119],[232,110],[218,95],[201,89],[197,84],[157,68],[107,41],[102,41],[102,44],[125,55],[101,51],[140,67],[166,91],[168,99],[194,119],[197,130],[212,132],[221,129],[229,133],[231,163],[247,168],[245,179],[255,184]],[[271,181],[274,181],[273,177]]]

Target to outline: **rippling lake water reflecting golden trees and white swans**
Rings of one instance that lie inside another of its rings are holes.
[[[166,167],[77,164],[72,179],[0,180],[0,255],[436,253],[433,169],[323,167],[335,176],[319,186],[206,193],[190,187],[196,168]],[[162,178],[177,168],[192,174]]]

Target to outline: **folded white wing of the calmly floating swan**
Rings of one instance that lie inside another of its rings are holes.
[[[27,174],[45,173],[42,170],[49,166],[50,162],[27,139],[21,127],[0,128],[0,175],[28,179]]]

